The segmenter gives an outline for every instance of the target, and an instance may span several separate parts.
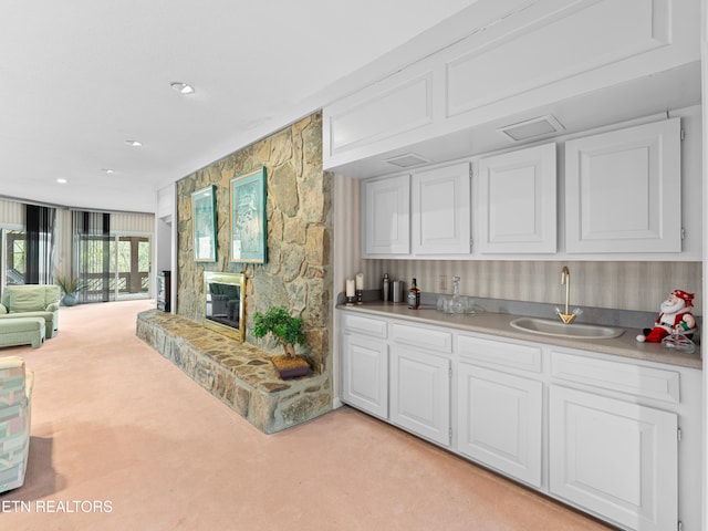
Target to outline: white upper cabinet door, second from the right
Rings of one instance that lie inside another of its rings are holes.
[[[555,144],[479,162],[479,252],[555,252]]]

